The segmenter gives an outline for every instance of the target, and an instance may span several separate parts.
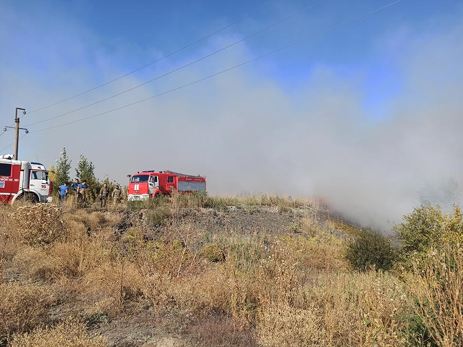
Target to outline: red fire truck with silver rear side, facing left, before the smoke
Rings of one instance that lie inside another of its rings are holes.
[[[188,194],[192,191],[206,190],[205,176],[185,175],[173,171],[141,171],[130,178],[127,198],[129,201],[155,198],[158,195],[171,195],[178,191]]]

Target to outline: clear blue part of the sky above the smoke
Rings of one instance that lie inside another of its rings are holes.
[[[62,68],[87,63],[95,74],[88,86],[104,82],[98,76],[98,54],[114,55],[114,66],[131,70],[150,62],[156,54],[165,54],[189,44],[226,24],[252,13],[271,1],[140,1],[128,6],[125,1],[42,1],[2,2],[3,68],[16,65],[36,76],[39,81],[59,80],[60,71],[50,64],[50,53],[58,55]],[[221,35],[246,36],[280,18],[303,9],[316,1],[281,0],[255,16],[233,26]],[[290,21],[261,33],[245,43],[259,55],[320,30],[346,21],[388,1],[327,0]],[[298,88],[315,66],[327,65],[340,73],[363,73],[365,107],[376,108],[400,92],[401,75],[396,58],[406,45],[384,47],[384,42],[403,34],[433,33],[442,23],[461,19],[458,1],[413,1],[401,3],[370,17],[314,38],[289,50],[277,53],[254,64],[263,68],[284,88]],[[73,37],[80,35],[94,48],[82,52],[74,47]],[[216,37],[210,38],[213,42]],[[48,40],[55,40],[53,46]],[[48,42],[47,42],[48,41]],[[41,43],[45,42],[45,45]],[[50,45],[55,52],[50,52]],[[172,57],[173,60],[194,56],[203,42]],[[87,60],[84,62],[83,60]],[[149,70],[140,71],[143,76]],[[5,87],[5,85],[3,86]],[[79,89],[76,88],[76,92]],[[61,97],[58,97],[60,99]],[[377,117],[375,112],[371,117]]]

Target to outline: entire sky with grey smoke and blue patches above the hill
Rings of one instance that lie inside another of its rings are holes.
[[[317,3],[280,0],[124,79],[30,112],[271,2],[2,1],[0,117],[10,125],[15,107],[29,111],[21,120],[31,132],[21,140],[20,157],[48,166],[65,146],[74,164],[83,154],[98,177],[122,183],[137,170],[171,169],[207,175],[211,194],[318,194],[366,223],[398,220],[419,200],[423,182],[450,177],[463,185],[460,1],[403,0],[213,79],[33,132],[204,78],[389,3],[326,0],[165,78],[30,125],[137,86]],[[12,139],[11,131],[0,136],[0,148]],[[237,169],[245,179],[237,179]]]

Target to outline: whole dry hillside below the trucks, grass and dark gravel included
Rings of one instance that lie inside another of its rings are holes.
[[[351,226],[294,200],[234,203],[3,207],[3,344],[402,345],[403,287],[350,271]]]

